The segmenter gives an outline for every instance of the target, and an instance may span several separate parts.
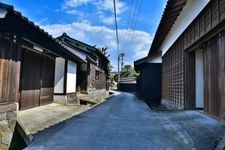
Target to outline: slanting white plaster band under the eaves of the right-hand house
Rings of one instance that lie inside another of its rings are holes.
[[[202,9],[206,6],[208,2],[209,0],[187,1],[182,12],[178,16],[169,34],[167,35],[160,47],[160,50],[162,51],[162,56],[168,51],[168,49],[173,45],[177,38],[188,27],[188,25],[197,17],[197,15],[202,11]]]

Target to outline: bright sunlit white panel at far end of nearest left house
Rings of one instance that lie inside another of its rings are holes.
[[[66,93],[76,92],[77,64],[68,61]]]

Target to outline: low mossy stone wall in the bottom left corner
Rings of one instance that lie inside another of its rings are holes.
[[[17,104],[0,105],[0,150],[9,149],[16,118]]]

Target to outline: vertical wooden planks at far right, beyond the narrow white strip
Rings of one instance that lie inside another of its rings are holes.
[[[204,55],[204,110],[225,119],[225,35],[210,40]]]

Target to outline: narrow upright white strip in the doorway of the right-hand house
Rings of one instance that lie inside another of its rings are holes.
[[[203,80],[203,50],[195,52],[195,99],[196,108],[203,108],[204,102],[204,80]]]

